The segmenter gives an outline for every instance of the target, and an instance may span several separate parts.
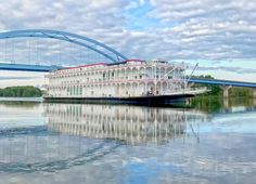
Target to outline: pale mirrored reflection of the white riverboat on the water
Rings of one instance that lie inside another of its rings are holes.
[[[54,132],[128,144],[166,143],[185,137],[188,129],[197,136],[192,124],[208,118],[196,110],[141,106],[44,104],[43,109]]]

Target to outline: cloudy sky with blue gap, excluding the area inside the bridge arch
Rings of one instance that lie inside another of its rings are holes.
[[[184,62],[190,68],[199,63],[195,75],[256,82],[256,1],[252,0],[1,2],[0,31],[35,28],[90,37],[129,58]],[[0,71],[0,87],[43,81],[43,74]]]

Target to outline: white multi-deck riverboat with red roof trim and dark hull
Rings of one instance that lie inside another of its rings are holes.
[[[207,92],[189,88],[184,64],[129,60],[54,70],[47,75],[46,101],[169,104]]]

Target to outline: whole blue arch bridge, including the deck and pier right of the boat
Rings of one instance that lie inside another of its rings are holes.
[[[88,50],[105,57],[112,63],[125,62],[128,58],[111,47],[105,45],[102,42],[93,40],[88,37],[84,37],[76,34],[71,34],[66,31],[49,30],[49,29],[27,29],[27,30],[13,30],[0,32],[0,40],[12,39],[12,38],[48,38],[61,41],[66,41]],[[20,70],[20,71],[39,71],[49,73],[55,69],[63,68],[63,66],[57,65],[38,65],[38,64],[14,64],[14,63],[0,63],[0,70]],[[253,89],[254,96],[256,97],[256,83],[244,82],[244,81],[231,81],[231,80],[220,80],[220,79],[202,79],[202,78],[190,78],[190,83],[201,83],[201,84],[216,84],[221,86],[223,89],[225,97],[228,97],[228,91],[231,87],[243,87]]]

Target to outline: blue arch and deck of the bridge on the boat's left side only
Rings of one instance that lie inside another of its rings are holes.
[[[89,37],[67,32],[60,30],[50,29],[25,29],[25,30],[12,30],[0,32],[0,40],[14,39],[14,38],[44,38],[61,40],[82,47],[87,50],[94,52],[103,56],[107,62],[117,63],[128,60],[124,54],[117,52],[113,48],[91,39]],[[24,71],[49,71],[53,69],[62,68],[62,66],[55,65],[34,65],[34,64],[12,64],[12,63],[0,63],[0,69],[4,70],[24,70]]]

